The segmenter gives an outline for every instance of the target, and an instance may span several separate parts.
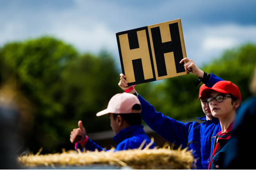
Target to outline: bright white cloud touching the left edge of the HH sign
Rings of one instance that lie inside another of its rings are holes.
[[[80,52],[96,53],[102,48],[114,50],[116,43],[115,34],[101,23],[86,25],[67,25],[63,28],[57,25],[53,34],[65,42],[74,45]]]

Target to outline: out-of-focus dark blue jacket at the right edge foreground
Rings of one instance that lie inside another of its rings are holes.
[[[237,111],[235,127],[224,155],[224,169],[255,169],[256,96],[246,100]]]

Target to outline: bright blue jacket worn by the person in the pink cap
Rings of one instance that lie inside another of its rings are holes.
[[[144,127],[143,125],[134,125],[134,126],[130,126],[130,127],[120,130],[117,133],[117,135],[115,135],[113,137],[113,140],[117,143],[117,145],[115,146],[115,151],[138,149],[144,140],[146,140],[146,143],[144,144],[143,148],[146,145],[148,145],[151,142],[151,140],[145,134],[143,127]],[[80,150],[81,150],[81,145],[79,145],[79,146],[80,146]],[[154,147],[155,147],[155,143],[153,143],[149,148],[153,149]],[[91,150],[91,151],[104,150],[104,148],[101,148],[99,145],[97,145],[90,139],[88,139],[88,142],[85,145],[85,149]]]

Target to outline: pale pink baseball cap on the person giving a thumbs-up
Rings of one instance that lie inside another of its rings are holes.
[[[138,97],[135,95],[130,93],[118,93],[109,100],[107,109],[98,112],[96,116],[106,115],[108,113],[141,113],[141,110],[132,109],[136,104],[141,105]]]

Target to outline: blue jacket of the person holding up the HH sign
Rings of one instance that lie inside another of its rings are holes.
[[[211,74],[210,79],[205,84],[208,87],[220,81],[219,77]],[[206,120],[204,115],[201,118],[203,123],[187,122],[174,120],[163,115],[161,112],[156,112],[155,108],[150,105],[139,95],[139,101],[142,105],[142,119],[144,122],[165,140],[181,146],[188,147],[192,150],[194,158],[197,159],[197,169],[208,169],[208,159],[213,152],[214,138],[221,130],[219,119]]]

